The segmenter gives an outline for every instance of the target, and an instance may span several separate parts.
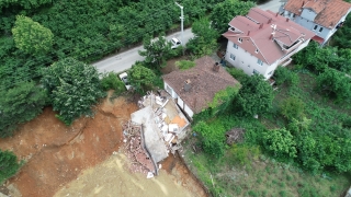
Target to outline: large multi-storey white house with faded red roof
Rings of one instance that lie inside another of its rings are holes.
[[[305,48],[315,33],[272,11],[252,8],[229,22],[226,60],[247,74],[270,79],[278,66]]]

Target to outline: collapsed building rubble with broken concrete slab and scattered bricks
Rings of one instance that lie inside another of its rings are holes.
[[[159,162],[176,153],[186,136],[189,120],[165,91],[148,92],[138,102],[139,111],[123,126],[128,158],[144,171],[157,175]]]

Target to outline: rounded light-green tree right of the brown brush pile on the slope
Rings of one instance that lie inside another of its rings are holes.
[[[296,158],[296,142],[293,135],[285,128],[263,132],[263,146],[275,157],[281,159]]]

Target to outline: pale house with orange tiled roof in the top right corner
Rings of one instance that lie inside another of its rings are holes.
[[[314,40],[324,45],[342,26],[351,3],[342,0],[288,0],[280,12],[297,24],[315,32]]]

